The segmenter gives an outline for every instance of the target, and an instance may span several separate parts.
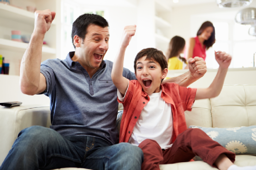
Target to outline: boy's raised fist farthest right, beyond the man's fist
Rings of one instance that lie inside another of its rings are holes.
[[[228,68],[231,63],[231,59],[231,55],[227,54],[226,52],[215,51],[215,60],[220,65],[220,68]]]

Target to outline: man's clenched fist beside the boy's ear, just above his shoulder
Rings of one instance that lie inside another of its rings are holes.
[[[207,71],[206,63],[201,57],[189,58],[188,65],[194,79],[201,78]]]

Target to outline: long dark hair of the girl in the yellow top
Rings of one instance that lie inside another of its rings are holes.
[[[174,36],[169,43],[169,47],[167,50],[167,60],[172,57],[178,57],[186,63],[187,60],[184,57],[180,57],[179,53],[185,47],[185,39],[180,36]]]

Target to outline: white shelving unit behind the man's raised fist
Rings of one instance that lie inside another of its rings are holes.
[[[42,61],[60,57],[60,0],[12,0],[11,3],[0,3],[0,54],[10,61],[9,75],[19,75],[19,62],[28,46],[28,43],[12,41],[11,31],[19,30],[21,35],[31,35],[34,29],[35,15],[25,10],[26,6],[35,6],[37,10],[50,9],[57,13],[45,34],[47,45],[42,46]]]

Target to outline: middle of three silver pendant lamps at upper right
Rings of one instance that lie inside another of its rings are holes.
[[[256,8],[244,8],[239,11],[235,17],[236,23],[243,25],[255,25],[256,24]]]

